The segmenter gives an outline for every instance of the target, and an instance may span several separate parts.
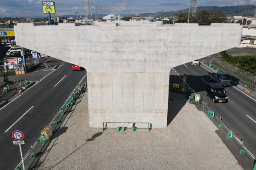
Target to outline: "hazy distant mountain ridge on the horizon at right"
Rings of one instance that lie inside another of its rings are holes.
[[[215,11],[215,10],[220,10],[223,11],[224,13],[229,13],[229,12],[233,12],[233,11],[239,11],[239,10],[243,10],[243,9],[247,9],[247,8],[252,8],[252,7],[256,7],[254,5],[247,5],[247,6],[224,6],[224,7],[218,7],[218,6],[198,6],[198,12],[201,10],[206,9],[207,11]],[[183,9],[183,10],[179,10],[180,12],[188,12],[189,8],[187,9]],[[243,11],[243,12],[237,12],[237,13],[232,13],[232,14],[227,14],[226,16],[253,16],[254,15],[255,10],[250,10],[250,11]],[[178,12],[175,12],[175,14],[177,14]],[[140,14],[140,17],[161,17],[162,12],[154,12],[154,13],[143,13]],[[173,16],[173,11],[170,12],[163,12],[163,17],[172,17]]]

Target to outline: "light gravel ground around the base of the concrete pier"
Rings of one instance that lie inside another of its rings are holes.
[[[150,132],[90,128],[87,93],[81,98],[49,141],[39,170],[242,169],[218,128],[195,105],[184,105],[186,98],[175,101],[173,109],[184,106],[167,128]]]

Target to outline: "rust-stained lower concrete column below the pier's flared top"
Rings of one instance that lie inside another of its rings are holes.
[[[166,127],[169,73],[87,73],[87,82],[90,127],[102,122]]]

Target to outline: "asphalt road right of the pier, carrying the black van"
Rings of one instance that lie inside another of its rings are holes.
[[[192,66],[189,63],[180,65],[171,70],[170,82],[182,82],[183,74],[187,74],[186,82],[200,94],[204,102],[222,117],[222,121],[239,139],[243,139],[245,146],[256,155],[256,99],[241,91],[235,83],[225,87],[228,103],[213,103],[209,96],[205,95],[206,85],[209,82],[207,73],[211,70],[204,66]],[[180,76],[180,77],[179,77]],[[251,119],[250,119],[250,118]],[[253,120],[252,120],[253,119]]]

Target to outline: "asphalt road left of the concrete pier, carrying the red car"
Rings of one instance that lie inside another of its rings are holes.
[[[20,163],[20,150],[14,145],[12,132],[23,132],[23,156],[40,136],[41,130],[49,125],[54,113],[64,104],[74,87],[83,79],[86,71],[72,71],[72,64],[52,59],[61,64],[58,69],[26,74],[35,85],[15,96],[12,102],[0,108],[0,169],[14,170]],[[18,120],[18,121],[17,121]],[[16,122],[17,121],[17,122]],[[16,122],[16,123],[15,123]]]

